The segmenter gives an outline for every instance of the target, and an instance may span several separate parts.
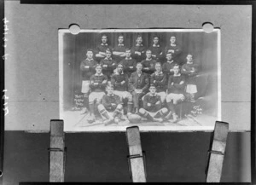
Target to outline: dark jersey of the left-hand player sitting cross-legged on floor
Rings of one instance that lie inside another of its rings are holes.
[[[114,105],[112,105],[112,103]],[[112,112],[116,107],[121,103],[119,95],[103,95],[102,105],[106,108],[107,111]]]

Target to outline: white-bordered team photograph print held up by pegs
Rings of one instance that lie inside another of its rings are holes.
[[[221,116],[220,30],[59,30],[65,131],[213,130]]]

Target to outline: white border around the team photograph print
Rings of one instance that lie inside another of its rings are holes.
[[[97,32],[97,33],[112,33],[112,32],[204,32],[202,29],[82,29],[82,32]],[[220,29],[213,29],[212,32],[217,32],[218,34],[218,63],[217,63],[217,76],[218,76],[218,113],[217,119],[215,121],[221,121],[221,35]],[[58,32],[58,43],[59,43],[59,110],[60,119],[64,120],[64,131],[65,132],[116,132],[116,131],[126,131],[127,127],[137,125],[139,129],[143,132],[147,131],[171,131],[171,132],[189,132],[189,131],[212,131],[214,130],[215,121],[211,123],[211,126],[143,126],[142,124],[131,124],[125,126],[90,126],[90,127],[73,127],[72,130],[67,128],[67,121],[65,121],[65,113],[63,110],[63,35],[65,33],[71,33],[69,29],[60,29]],[[66,125],[66,126],[65,126]]]

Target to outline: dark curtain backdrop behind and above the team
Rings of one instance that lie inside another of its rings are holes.
[[[108,44],[115,47],[120,34],[124,35],[125,47],[136,44],[137,35],[143,36],[143,45],[147,48],[153,44],[153,37],[160,37],[160,46],[164,49],[170,44],[171,36],[176,37],[176,43],[182,53],[178,60],[185,61],[186,55],[194,55],[194,61],[200,64],[201,72],[212,73],[212,84],[217,85],[217,32],[82,32],[78,35],[65,33],[64,43],[64,107],[73,106],[73,95],[81,90],[80,62],[86,58],[86,49],[96,49],[101,43],[102,34],[107,34]],[[215,75],[214,75],[215,74]],[[216,92],[217,93],[217,92]]]

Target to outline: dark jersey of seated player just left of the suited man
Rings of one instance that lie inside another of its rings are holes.
[[[121,84],[121,82],[123,82],[123,81],[125,81],[125,84]],[[129,79],[128,79],[127,74],[125,74],[124,72],[121,74],[116,72],[111,77],[111,83],[113,84],[114,90],[127,91]]]

